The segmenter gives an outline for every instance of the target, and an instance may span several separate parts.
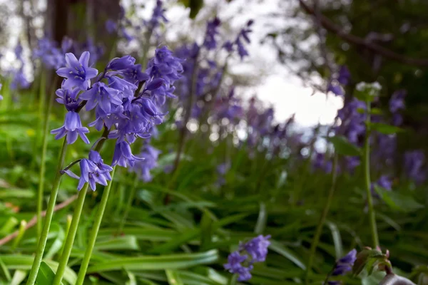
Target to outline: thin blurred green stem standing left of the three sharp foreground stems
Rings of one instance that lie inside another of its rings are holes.
[[[44,78],[42,76],[42,78]],[[57,77],[56,77],[57,78]],[[44,84],[41,84],[44,88]],[[54,80],[54,87],[56,86],[56,79]],[[41,234],[42,217],[41,211],[43,210],[43,192],[44,181],[46,172],[46,151],[48,148],[48,134],[49,134],[49,115],[51,114],[52,105],[54,105],[54,92],[50,92],[48,96],[48,108],[44,116],[44,125],[42,129],[43,140],[41,142],[41,162],[39,172],[39,189],[37,190],[37,237]]]

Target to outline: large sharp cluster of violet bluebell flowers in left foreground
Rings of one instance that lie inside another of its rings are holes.
[[[79,59],[73,53],[66,53],[66,66],[56,71],[65,78],[61,88],[56,90],[57,102],[64,105],[68,113],[63,126],[51,133],[56,135],[56,139],[66,137],[68,144],[76,142],[78,137],[89,143],[86,137],[89,129],[83,126],[79,112],[83,108],[93,111],[95,120],[88,126],[104,130],[101,140],[116,140],[111,166],[134,167],[136,162],[146,158],[149,161],[139,166],[143,177],[149,180],[147,171],[153,168],[158,153],[148,148],[143,157],[137,157],[131,151],[131,144],[137,138],[150,138],[152,129],[163,122],[166,113],[158,109],[159,97],[166,95],[165,90],[170,92],[168,97],[173,96],[172,84],[180,78],[181,60],[164,46],[156,49],[146,71],[140,64],[135,64],[132,56],[123,56],[113,58],[98,73],[89,66],[89,57],[88,51],[83,52]],[[106,165],[95,150],[91,150],[88,159],[80,160],[79,164],[80,177],[68,169],[65,171],[79,179],[78,190],[85,182],[96,190],[96,184],[106,185],[111,180],[113,168]]]

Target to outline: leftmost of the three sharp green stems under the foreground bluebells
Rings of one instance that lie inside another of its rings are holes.
[[[29,279],[26,283],[27,285],[34,285],[34,283],[36,282],[37,272],[39,271],[41,259],[43,258],[46,241],[48,240],[49,228],[51,227],[52,215],[54,214],[56,196],[58,195],[59,184],[61,182],[62,175],[60,171],[63,168],[64,160],[66,158],[66,150],[67,141],[66,138],[64,138],[63,145],[61,147],[61,154],[59,155],[58,167],[56,168],[54,185],[52,186],[51,196],[49,197],[49,203],[46,209],[45,222],[43,225],[43,229],[41,229],[39,243],[37,244],[36,249],[36,256],[34,257],[33,265],[31,266]]]

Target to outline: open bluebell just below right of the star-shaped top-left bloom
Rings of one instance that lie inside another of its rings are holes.
[[[106,114],[111,112],[112,105],[122,105],[119,91],[102,82],[93,84],[91,89],[81,93],[80,98],[86,100],[86,110],[98,107]]]

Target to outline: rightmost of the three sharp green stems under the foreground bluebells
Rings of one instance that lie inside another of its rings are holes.
[[[95,246],[98,230],[100,229],[101,221],[104,215],[104,210],[106,209],[108,195],[110,195],[111,185],[113,184],[113,177],[114,177],[115,171],[116,171],[116,166],[113,167],[113,171],[111,172],[111,181],[108,182],[107,187],[104,189],[103,197],[101,197],[101,202],[98,207],[98,212],[96,213],[95,221],[93,222],[91,236],[89,237],[88,245],[86,246],[86,251],[81,263],[81,268],[78,271],[76,285],[83,284],[83,281],[85,280],[86,270],[88,269],[89,261],[91,260],[91,255],[92,255],[93,247]]]

